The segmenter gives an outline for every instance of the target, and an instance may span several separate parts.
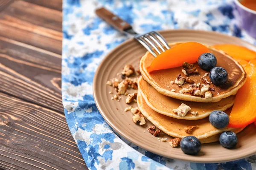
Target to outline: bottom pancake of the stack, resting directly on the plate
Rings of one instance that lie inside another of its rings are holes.
[[[190,121],[190,120],[182,120],[175,119],[169,116],[165,116],[163,114],[157,113],[152,110],[145,102],[143,97],[138,91],[137,95],[137,103],[141,113],[148,119],[152,124],[162,130],[164,133],[175,137],[175,138],[183,138],[185,136],[195,136],[200,139],[204,143],[216,142],[218,141],[218,135],[224,131],[233,131],[234,133],[239,133],[244,128],[230,128],[225,127],[222,129],[217,129],[213,127],[209,118]],[[230,109],[229,109],[230,110]],[[227,114],[230,114],[230,111],[226,111]],[[184,127],[195,126],[191,133],[186,133],[184,131]],[[180,129],[180,130],[179,130]],[[216,135],[216,136],[215,136]],[[204,139],[204,140],[203,140]]]

